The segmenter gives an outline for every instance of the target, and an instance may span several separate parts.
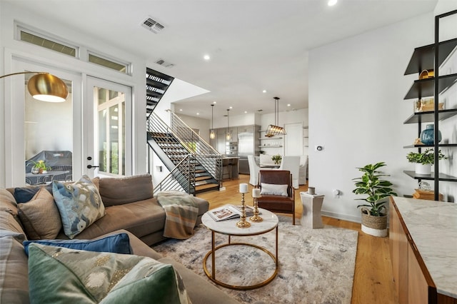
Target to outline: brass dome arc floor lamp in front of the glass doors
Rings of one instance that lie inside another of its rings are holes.
[[[27,88],[31,96],[39,101],[64,102],[69,95],[64,81],[46,72],[19,72],[0,76],[0,78],[19,74],[36,74],[29,79]]]

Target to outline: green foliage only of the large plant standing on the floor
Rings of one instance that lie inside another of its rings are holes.
[[[358,168],[358,171],[363,172],[363,176],[353,178],[356,188],[352,192],[367,196],[366,198],[358,198],[358,200],[366,201],[367,203],[358,205],[357,208],[369,207],[368,211],[371,216],[384,216],[385,213],[383,211],[386,210],[386,200],[384,198],[397,195],[391,188],[393,183],[381,179],[383,176],[388,176],[378,171],[378,168],[383,166],[386,166],[386,163],[368,164],[363,168]]]

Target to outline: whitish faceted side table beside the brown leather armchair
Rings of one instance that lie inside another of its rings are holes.
[[[303,212],[301,213],[301,226],[306,228],[323,228],[321,208],[323,203],[322,194],[309,194],[300,192]]]

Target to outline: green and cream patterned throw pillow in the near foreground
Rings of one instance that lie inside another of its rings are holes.
[[[29,290],[32,304],[190,303],[172,265],[36,243],[29,245]]]

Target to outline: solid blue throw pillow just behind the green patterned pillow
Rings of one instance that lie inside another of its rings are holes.
[[[108,235],[105,238],[99,238],[97,240],[26,240],[23,243],[26,255],[29,255],[29,245],[31,243],[96,252],[133,253],[130,247],[129,235],[127,233]]]

